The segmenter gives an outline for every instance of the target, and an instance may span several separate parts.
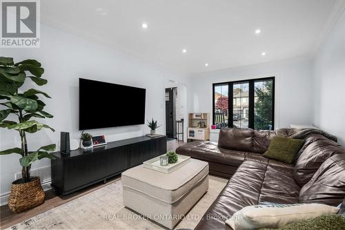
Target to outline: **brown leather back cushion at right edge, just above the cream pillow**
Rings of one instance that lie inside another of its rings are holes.
[[[345,155],[336,154],[328,158],[313,178],[299,192],[301,203],[335,205],[345,197]]]

